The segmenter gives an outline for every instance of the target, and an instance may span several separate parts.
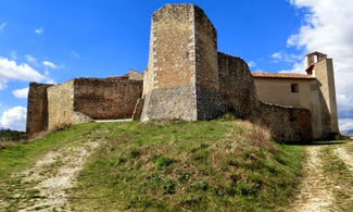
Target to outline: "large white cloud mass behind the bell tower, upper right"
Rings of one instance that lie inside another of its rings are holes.
[[[340,128],[353,128],[353,1],[290,0],[308,9],[298,34],[288,38],[288,47],[303,53],[320,51],[333,58]],[[304,63],[302,62],[302,65]],[[301,64],[295,64],[298,70]],[[348,104],[350,102],[350,104]]]

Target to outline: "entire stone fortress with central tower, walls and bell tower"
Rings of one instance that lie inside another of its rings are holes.
[[[27,134],[97,120],[213,120],[225,113],[267,126],[276,140],[325,139],[339,133],[332,60],[306,55],[307,75],[251,73],[217,51],[217,33],[193,4],[152,15],[144,73],[30,83]]]

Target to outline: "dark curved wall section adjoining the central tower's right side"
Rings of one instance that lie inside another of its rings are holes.
[[[222,104],[226,112],[249,117],[259,100],[248,64],[240,58],[218,52],[218,79]]]

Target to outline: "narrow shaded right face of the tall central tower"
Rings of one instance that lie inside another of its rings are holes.
[[[212,120],[224,112],[218,86],[217,32],[198,7],[194,7],[194,45],[198,120]]]

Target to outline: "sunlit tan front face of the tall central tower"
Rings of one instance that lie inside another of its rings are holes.
[[[193,8],[166,4],[152,15],[143,122],[198,120]]]

